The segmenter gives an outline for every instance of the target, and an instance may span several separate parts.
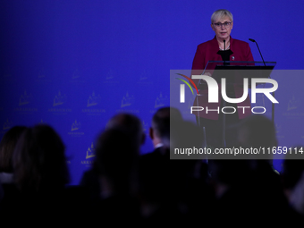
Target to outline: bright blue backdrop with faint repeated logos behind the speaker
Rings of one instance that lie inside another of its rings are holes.
[[[170,70],[190,69],[198,44],[215,35],[210,17],[219,8],[233,14],[232,37],[256,39],[275,69],[303,68],[300,1],[2,0],[0,138],[13,125],[50,124],[78,184],[111,116],[137,114],[148,133],[157,108],[170,105]],[[304,138],[294,89],[304,80],[291,78],[278,81],[290,105],[275,115],[280,145],[288,147]],[[142,153],[150,150],[147,140]]]

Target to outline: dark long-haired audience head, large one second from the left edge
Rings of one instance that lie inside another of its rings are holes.
[[[62,190],[69,181],[63,141],[47,125],[23,132],[14,150],[13,168],[22,192]]]

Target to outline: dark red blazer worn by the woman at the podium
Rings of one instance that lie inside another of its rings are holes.
[[[241,41],[239,39],[233,39],[232,37],[230,37],[230,49],[233,53],[230,56],[230,61],[254,61],[249,44],[247,42]],[[213,38],[205,43],[198,45],[198,49],[192,63],[191,75],[201,74],[204,71],[208,61],[223,61],[222,56],[217,54],[218,51],[219,47],[216,38]],[[195,80],[195,82],[198,83],[198,80]],[[238,88],[236,85],[234,85],[234,92],[235,97],[241,97],[243,94],[243,89],[240,87]],[[217,120],[217,112],[212,111],[206,114],[206,106],[208,107],[208,109],[217,109],[218,106],[221,106],[221,86],[219,85],[219,103],[208,103],[207,89],[199,90],[199,94],[200,96],[197,96],[195,98],[193,106],[203,106],[204,110],[200,112],[195,112],[194,114],[203,118]],[[246,98],[245,101],[237,105],[250,106],[249,96]],[[243,108],[238,108],[237,110],[240,119],[245,118],[246,116],[251,114],[251,110],[249,108],[245,108],[244,110],[244,114]],[[231,110],[227,110],[227,112],[231,112]]]

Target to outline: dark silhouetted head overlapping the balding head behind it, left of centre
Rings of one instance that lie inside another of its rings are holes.
[[[109,129],[97,138],[95,168],[102,194],[128,195],[136,187],[139,144],[124,129]]]

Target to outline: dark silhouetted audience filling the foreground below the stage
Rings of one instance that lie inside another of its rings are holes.
[[[278,146],[274,122],[263,114],[245,118],[236,130],[235,147]],[[0,142],[4,221],[35,224],[29,220],[35,215],[67,223],[67,211],[89,216],[91,224],[296,225],[302,221],[304,162],[296,153],[285,156],[282,173],[274,170],[268,154],[234,160],[176,156],[177,150],[204,148],[206,135],[173,107],[156,111],[149,137],[154,150],[140,155],[145,133],[139,117],[114,115],[97,136],[92,168],[83,173],[80,186],[69,186],[65,148],[55,130],[44,124],[13,127]]]

